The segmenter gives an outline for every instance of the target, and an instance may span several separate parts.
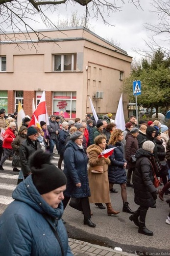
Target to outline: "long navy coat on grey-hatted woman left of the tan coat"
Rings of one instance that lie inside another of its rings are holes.
[[[67,197],[90,196],[89,180],[87,173],[87,155],[83,149],[70,140],[64,152],[64,173],[67,177],[67,188],[64,195]],[[75,185],[81,183],[78,188]]]

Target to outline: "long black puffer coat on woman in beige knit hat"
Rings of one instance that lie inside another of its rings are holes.
[[[140,148],[136,154],[136,168],[134,172],[135,203],[143,207],[152,207],[155,204],[152,193],[157,189],[153,185],[153,170],[151,158],[153,154]]]

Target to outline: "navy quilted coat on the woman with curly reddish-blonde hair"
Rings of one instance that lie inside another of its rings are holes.
[[[114,149],[112,155],[109,157],[111,164],[108,167],[109,183],[122,184],[126,183],[126,172],[123,167],[126,162],[123,159],[123,146],[121,142],[116,142],[115,145],[109,144],[108,149],[117,147]]]

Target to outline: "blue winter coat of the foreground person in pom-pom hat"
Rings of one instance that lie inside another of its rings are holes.
[[[0,217],[0,256],[62,256],[44,214],[58,233],[64,256],[73,256],[61,219],[62,202],[56,209],[49,206],[34,186],[32,175],[17,186],[12,196],[15,200]]]

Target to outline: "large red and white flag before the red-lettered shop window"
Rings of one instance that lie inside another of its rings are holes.
[[[44,121],[44,122],[46,122],[47,125],[49,125],[49,117],[48,117],[48,113],[47,113],[45,91],[43,91],[40,102],[32,115],[31,121],[29,123],[29,127],[37,126],[37,121],[38,121],[39,125],[40,125],[41,121]]]

